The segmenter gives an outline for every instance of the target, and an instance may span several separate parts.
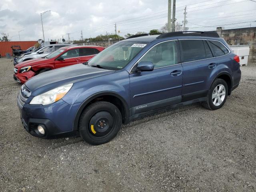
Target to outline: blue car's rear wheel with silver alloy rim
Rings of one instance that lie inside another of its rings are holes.
[[[216,79],[208,91],[207,100],[202,102],[206,109],[217,110],[226,102],[228,96],[228,84],[223,79]]]

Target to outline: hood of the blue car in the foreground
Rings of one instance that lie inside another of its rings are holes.
[[[75,64],[34,76],[30,78],[25,85],[32,92],[31,96],[36,96],[65,84],[75,83],[114,72],[113,70],[89,67],[84,64]]]

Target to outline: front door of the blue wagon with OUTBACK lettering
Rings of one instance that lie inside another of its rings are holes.
[[[178,41],[170,40],[153,46],[138,61],[150,61],[153,71],[130,73],[132,114],[181,102],[182,65],[179,63]],[[133,72],[134,71],[134,72]]]

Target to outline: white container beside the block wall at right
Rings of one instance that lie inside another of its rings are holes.
[[[248,45],[230,45],[234,54],[239,56],[240,65],[248,64],[248,57],[250,52],[250,47]]]

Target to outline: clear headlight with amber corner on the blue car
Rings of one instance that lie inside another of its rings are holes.
[[[67,84],[64,86],[57,87],[52,89],[48,92],[35,96],[31,101],[30,104],[32,105],[48,105],[60,100],[62,97],[66,95],[66,93],[71,89],[71,84]]]

